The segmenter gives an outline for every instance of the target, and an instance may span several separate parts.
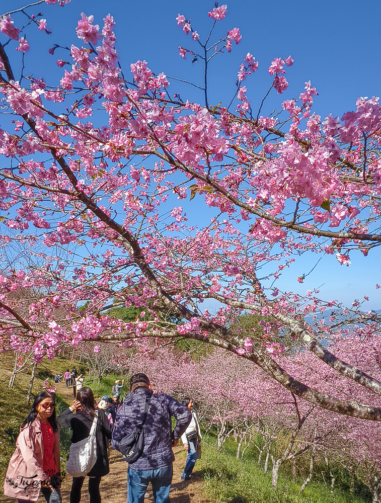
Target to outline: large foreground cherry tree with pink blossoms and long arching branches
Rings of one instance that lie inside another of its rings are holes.
[[[61,344],[190,338],[252,361],[313,405],[381,421],[381,381],[362,362],[351,365],[321,344],[332,326],[318,319],[328,310],[340,315],[335,331],[357,323],[366,332],[377,329],[379,316],[362,312],[359,302],[346,309],[316,292],[303,298],[276,287],[295,256],[328,254],[348,265],[350,255],[366,256],[381,241],[378,99],[359,98],[341,119],[321,118],[312,113],[317,90],[307,82],[298,99],[263,116],[264,100],[288,87],[293,60],[282,55],[270,63],[269,92],[255,105],[244,81],[255,78],[258,63],[247,53],[232,102],[219,103],[208,95],[210,61],[242,39],[237,27],[218,33],[226,6],[208,13],[206,36],[177,17],[189,35],[180,56],[204,65],[199,103],[170,92],[170,79],[145,61],[131,64],[130,77],[119,64],[110,15],[102,22],[82,13],[72,26],[78,45],[53,45],[59,82],[49,74],[27,77],[33,39],[49,31],[48,14],[33,9],[56,3],[41,0],[0,21],[2,108],[10,114],[0,130],[0,209],[9,229],[1,242],[21,240],[42,259],[33,270],[20,264],[0,277],[3,350],[33,351],[39,361],[53,358]],[[188,197],[203,205],[207,224],[198,226],[179,205]],[[262,278],[269,264],[273,270]],[[10,295],[21,287],[43,292],[22,315]],[[202,306],[211,300],[220,306],[216,313]],[[141,308],[134,322],[107,314],[131,305]],[[229,328],[243,310],[262,318],[251,337]],[[358,384],[354,394],[327,394],[320,382],[283,369],[273,358],[283,351],[280,337],[302,340]],[[356,400],[362,388],[371,392],[365,403]]]

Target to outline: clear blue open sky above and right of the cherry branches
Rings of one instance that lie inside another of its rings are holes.
[[[25,4],[21,0],[1,0],[0,14]],[[357,97],[380,96],[379,0],[362,3],[358,0],[273,0],[271,3],[232,0],[227,5],[228,14],[223,21],[218,22],[216,34],[224,36],[228,29],[239,27],[242,42],[238,46],[234,45],[231,54],[224,54],[212,63],[209,99],[212,105],[230,101],[235,92],[239,64],[247,52],[251,52],[259,61],[259,70],[245,82],[253,105],[260,103],[271,85],[271,77],[267,72],[271,60],[288,55],[294,58],[294,65],[287,69],[286,74],[288,90],[281,97],[272,95],[264,113],[277,109],[284,99],[297,97],[306,80],[311,80],[319,92],[313,110],[322,116],[332,113],[341,117],[344,112],[353,110]],[[57,50],[51,56],[48,54],[49,47],[55,43],[68,46],[81,43],[75,36],[81,12],[88,16],[93,14],[94,23],[99,25],[102,25],[103,17],[110,13],[116,20],[117,47],[126,77],[131,62],[145,59],[156,73],[164,71],[167,75],[201,84],[200,63],[192,65],[189,56],[185,61],[179,57],[178,46],[192,49],[196,45],[192,45],[190,37],[177,26],[175,18],[178,13],[184,14],[203,38],[211,26],[207,12],[213,6],[214,2],[206,0],[72,0],[64,8],[42,4],[28,12],[42,12],[52,34],[48,36],[40,32],[30,37],[33,44],[26,55],[26,73],[46,77],[49,72],[48,82],[53,83],[62,75],[62,69],[52,62],[60,57],[64,59],[65,52]],[[21,14],[15,15],[18,27],[21,26],[19,20],[22,18]],[[44,57],[41,57],[41,53]],[[21,58],[21,55],[17,57]],[[170,88],[171,93],[180,91],[183,99],[201,100],[194,88],[189,89],[175,82],[171,83]],[[192,203],[195,209],[197,201],[193,200]],[[380,248],[371,251],[366,259],[359,252],[351,253],[350,267],[340,266],[333,257],[325,257],[299,285],[297,276],[307,274],[315,265],[315,259],[319,258],[314,257],[312,262],[311,257],[303,257],[283,273],[279,287],[304,293],[307,289],[324,284],[321,288],[322,298],[338,298],[350,303],[354,298],[368,295],[370,301],[364,305],[364,309],[379,309],[381,289],[376,290],[375,284],[381,284],[380,257]]]

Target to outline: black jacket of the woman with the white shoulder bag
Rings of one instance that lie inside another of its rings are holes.
[[[75,414],[67,408],[59,414],[57,422],[60,426],[71,428],[71,442],[73,444],[85,439],[90,434],[93,420],[89,414],[81,411]],[[98,424],[95,434],[97,441],[97,461],[88,473],[89,477],[103,477],[110,471],[106,438],[111,439],[111,425],[103,410],[98,410]]]

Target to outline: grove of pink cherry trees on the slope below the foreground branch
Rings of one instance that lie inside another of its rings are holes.
[[[347,334],[346,341],[341,338],[332,344],[335,353],[345,352],[346,360],[355,364],[358,354],[354,348],[359,343],[367,367],[379,378],[377,334],[364,341],[361,336]],[[352,478],[369,486],[374,501],[379,498],[381,458],[377,422],[311,406],[280,384],[274,385],[261,369],[253,370],[250,362],[238,355],[226,355],[220,349],[197,361],[189,353],[179,352],[163,342],[139,342],[138,346],[120,364],[130,373],[147,373],[159,391],[180,399],[192,396],[202,428],[215,434],[217,448],[221,449],[228,438],[234,438],[238,458],[243,446],[257,451],[258,465],[265,472],[271,470],[274,488],[281,469],[291,463],[295,475],[297,470],[306,473],[301,492],[315,476],[315,470],[322,468],[333,490],[335,469],[341,465],[352,472]],[[351,353],[348,348],[352,348]],[[355,393],[355,383],[348,382],[306,349],[288,352],[278,357],[278,362],[292,370],[297,379],[319,385],[327,394],[335,390],[344,398]],[[365,401],[370,392],[363,392],[368,394],[360,397]]]

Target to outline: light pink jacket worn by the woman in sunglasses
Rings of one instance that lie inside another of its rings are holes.
[[[54,461],[59,471],[59,430],[54,437]],[[41,482],[49,478],[42,469],[43,457],[41,423],[36,417],[33,423],[20,429],[4,480],[4,494],[37,501]]]

